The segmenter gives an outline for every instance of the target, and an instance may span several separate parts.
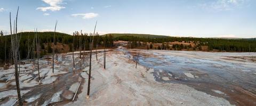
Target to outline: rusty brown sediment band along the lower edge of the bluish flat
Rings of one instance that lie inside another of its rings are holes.
[[[202,91],[213,96],[224,98],[228,100],[230,104],[235,104],[238,106],[256,105],[256,95],[252,92],[244,90],[242,87],[239,87],[238,85],[220,85],[215,83],[207,83],[203,81],[188,81],[183,80],[182,76],[180,76],[180,78],[177,80],[174,75],[170,76],[165,71],[159,74],[160,75],[157,76],[158,78],[156,79],[156,81],[158,82],[185,84],[190,87],[193,87],[198,91]],[[162,77],[169,77],[169,81],[163,80]],[[212,90],[218,90],[223,92],[224,94],[218,94],[213,92]]]

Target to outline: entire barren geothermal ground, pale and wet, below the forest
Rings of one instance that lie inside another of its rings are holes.
[[[256,53],[108,50],[92,56],[90,98],[86,99],[89,56],[59,54],[52,63],[39,60],[41,82],[33,61],[20,65],[25,105],[256,105]],[[76,52],[78,53],[78,52]],[[138,66],[135,68],[137,55]],[[254,57],[253,57],[254,56]],[[46,56],[47,57],[47,56]],[[51,57],[51,56],[49,56]],[[37,64],[37,63],[35,63]],[[82,68],[81,68],[82,67]],[[73,96],[78,89],[75,100]],[[17,104],[14,68],[1,67],[0,104]],[[15,103],[16,102],[16,103]]]

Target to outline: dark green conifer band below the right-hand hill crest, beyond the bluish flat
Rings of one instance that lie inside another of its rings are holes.
[[[214,39],[214,38],[190,38],[190,37],[165,37],[165,38],[145,38],[145,37],[135,37],[135,36],[118,36],[115,40],[129,41],[131,43],[131,48],[141,46],[141,42],[150,42],[150,43],[162,43],[162,46],[158,46],[155,49],[166,49],[170,48],[166,42],[187,42],[194,43],[196,47],[178,45],[175,44],[172,46],[175,50],[181,49],[201,49],[201,46],[207,46],[208,50],[220,50],[220,51],[237,51],[237,52],[256,52],[256,39]],[[145,46],[145,45],[142,45]],[[154,49],[150,45],[148,47]]]

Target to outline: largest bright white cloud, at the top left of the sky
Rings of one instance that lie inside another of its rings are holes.
[[[47,6],[47,7],[38,7],[36,8],[36,10],[41,10],[41,11],[60,11],[61,9],[63,8],[66,8],[66,7],[63,7],[61,6],[61,4],[63,4],[63,0],[42,0],[43,2],[49,4],[50,6]]]

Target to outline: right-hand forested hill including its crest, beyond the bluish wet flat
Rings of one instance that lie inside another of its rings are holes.
[[[162,48],[172,48],[181,50],[186,43],[188,45],[195,45],[191,48],[193,50],[201,50],[202,46],[206,51],[219,50],[219,51],[238,51],[238,52],[256,52],[256,39],[219,39],[219,38],[193,38],[193,37],[170,37],[170,36],[156,36],[151,34],[111,34],[115,40],[129,41],[132,47],[137,47],[138,45],[133,42],[150,42],[150,43],[162,43]],[[171,42],[175,43],[175,46]],[[161,46],[158,47],[158,49]]]

